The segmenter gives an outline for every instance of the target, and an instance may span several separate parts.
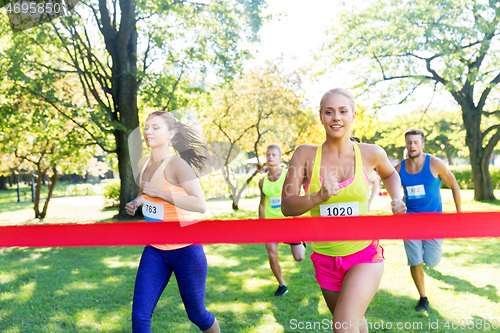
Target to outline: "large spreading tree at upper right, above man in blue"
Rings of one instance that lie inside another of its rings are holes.
[[[495,199],[488,159],[500,140],[499,22],[498,1],[381,0],[346,11],[326,45],[334,64],[355,64],[353,86],[378,94],[375,104],[402,103],[421,85],[455,100],[476,200]]]

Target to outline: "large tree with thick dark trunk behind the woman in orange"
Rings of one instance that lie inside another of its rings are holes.
[[[256,40],[262,0],[82,0],[72,14],[16,34],[8,56],[11,77],[80,122],[96,144],[116,153],[120,213],[137,194],[128,136],[139,126],[139,104],[173,109],[188,77],[228,80],[250,56],[242,46]],[[247,44],[248,45],[248,44]],[[40,59],[39,55],[50,56]],[[72,76],[78,91],[56,98],[32,87],[29,73]],[[73,104],[80,96],[85,108]],[[134,149],[141,149],[136,147]]]

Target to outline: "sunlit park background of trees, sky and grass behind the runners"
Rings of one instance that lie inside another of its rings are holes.
[[[464,211],[498,211],[496,1],[81,1],[44,20],[1,16],[1,225],[129,220],[137,157],[128,139],[156,109],[212,143],[213,168],[200,177],[208,211],[196,217],[257,218],[266,146],[279,142],[286,162],[299,144],[321,143],[317,108],[334,86],[355,94],[353,134],[363,142],[397,163],[404,131],[423,128],[425,151],[459,181]],[[442,194],[453,212],[450,190]],[[389,214],[388,198],[377,197],[371,213]],[[417,323],[407,332],[436,320],[436,332],[498,331],[498,239],[445,242],[442,263],[427,271],[428,315],[412,310],[402,242],[382,245],[386,270],[368,321]],[[311,262],[294,262],[286,246],[290,293],[279,299],[263,245],[205,249],[207,306],[224,331],[293,332],[301,330],[292,319],[330,319]],[[0,251],[2,332],[130,331],[141,247]],[[153,330],[196,332],[175,285]],[[474,328],[454,329],[454,319]]]

